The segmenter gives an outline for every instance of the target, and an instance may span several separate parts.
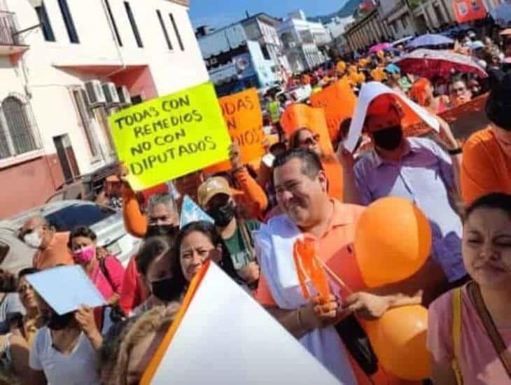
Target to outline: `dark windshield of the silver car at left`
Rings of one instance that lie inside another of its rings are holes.
[[[90,227],[116,214],[115,210],[94,204],[72,204],[45,216],[57,231],[71,231],[78,226]]]

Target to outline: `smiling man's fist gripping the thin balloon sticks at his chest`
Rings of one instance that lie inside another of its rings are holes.
[[[304,328],[307,330],[324,328],[325,326],[337,323],[339,309],[339,299],[335,295],[330,295],[326,299],[316,295],[316,297],[311,298],[309,303],[300,309],[300,318]]]

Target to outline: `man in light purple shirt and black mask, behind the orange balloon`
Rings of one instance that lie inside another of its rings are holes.
[[[410,279],[410,288],[424,290],[423,302],[428,303],[466,277],[461,219],[450,199],[458,191],[461,150],[447,123],[440,122],[437,137],[449,155],[430,139],[405,138],[401,118],[402,112],[391,96],[372,102],[364,130],[374,150],[356,162],[353,178],[361,204],[388,196],[404,197],[428,217],[433,230],[433,258]]]

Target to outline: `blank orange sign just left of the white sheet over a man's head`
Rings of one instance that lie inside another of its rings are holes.
[[[325,109],[326,124],[330,140],[337,139],[339,126],[346,118],[353,116],[356,96],[344,78],[311,95],[311,106]]]

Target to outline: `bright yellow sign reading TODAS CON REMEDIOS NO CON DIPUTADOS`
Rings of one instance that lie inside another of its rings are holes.
[[[211,83],[119,111],[109,123],[134,190],[229,158],[230,137]]]

